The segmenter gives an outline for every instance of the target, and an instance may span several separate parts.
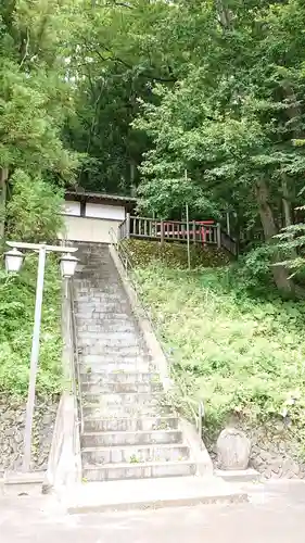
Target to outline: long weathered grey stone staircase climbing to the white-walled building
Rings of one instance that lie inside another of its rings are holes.
[[[79,244],[75,311],[84,404],[82,477],[193,476],[198,466],[107,245]]]

